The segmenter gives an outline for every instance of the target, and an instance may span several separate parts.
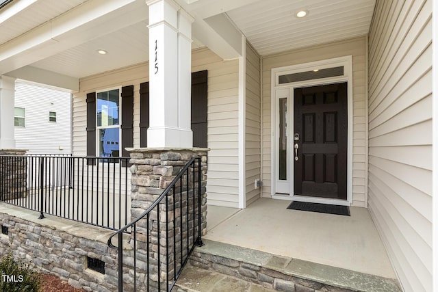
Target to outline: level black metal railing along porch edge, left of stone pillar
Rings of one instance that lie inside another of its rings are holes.
[[[127,157],[0,156],[0,200],[118,230],[130,218]]]

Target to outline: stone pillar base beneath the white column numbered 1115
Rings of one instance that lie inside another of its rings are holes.
[[[131,166],[131,216],[138,217],[146,209],[151,207],[153,202],[159,198],[163,191],[172,183],[173,179],[184,165],[192,157],[201,157],[201,234],[207,233],[207,149],[206,148],[140,148],[129,149],[132,163]],[[196,165],[197,170],[199,165]],[[190,170],[192,172],[192,170]],[[177,271],[181,262],[181,245],[183,256],[187,255],[188,247],[194,244],[193,235],[197,237],[198,213],[194,208],[198,207],[198,191],[193,196],[192,191],[187,192],[189,187],[197,186],[198,178],[190,174],[190,178],[179,181],[173,192],[163,204],[159,204],[149,218],[141,220],[136,230],[137,258],[143,258],[140,266],[146,267],[146,248],[149,245],[149,279],[157,288],[158,281],[162,284],[162,291],[166,287],[166,280],[171,280],[174,275],[174,263]],[[181,189],[181,191],[180,191]],[[194,198],[195,197],[195,198]],[[188,214],[188,215],[186,215]],[[159,218],[158,218],[159,217]],[[148,225],[149,224],[149,225]],[[159,233],[158,233],[159,226]],[[174,232],[175,226],[175,232]],[[189,226],[189,228],[187,228]],[[192,232],[192,226],[196,226],[196,232]],[[149,228],[149,238],[147,237]],[[170,237],[168,237],[170,236]],[[175,241],[174,241],[175,236]],[[188,243],[188,244],[187,244]],[[174,248],[176,253],[174,253]],[[167,265],[167,252],[169,251],[169,263]],[[161,258],[162,263],[158,266],[157,259]],[[138,265],[139,266],[139,265]],[[166,269],[169,267],[169,278]],[[158,271],[160,271],[158,273]],[[141,276],[144,277],[144,276]]]

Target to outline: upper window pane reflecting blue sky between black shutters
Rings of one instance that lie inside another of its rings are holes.
[[[97,127],[119,124],[118,89],[97,93]]]

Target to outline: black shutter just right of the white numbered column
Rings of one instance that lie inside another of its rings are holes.
[[[193,146],[207,147],[207,70],[192,73]]]

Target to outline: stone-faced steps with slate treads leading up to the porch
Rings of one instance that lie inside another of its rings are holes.
[[[236,285],[257,284],[254,288],[248,286],[250,289],[268,289],[264,291],[401,291],[395,279],[278,256],[217,241],[203,241],[205,245],[194,250],[190,258],[191,266],[186,268],[187,271],[183,271],[178,280],[178,283],[181,283],[179,288],[186,289],[181,291],[250,291],[203,290],[207,289],[205,287],[213,289],[216,284],[222,285],[229,279]],[[201,289],[196,290],[196,287]]]

